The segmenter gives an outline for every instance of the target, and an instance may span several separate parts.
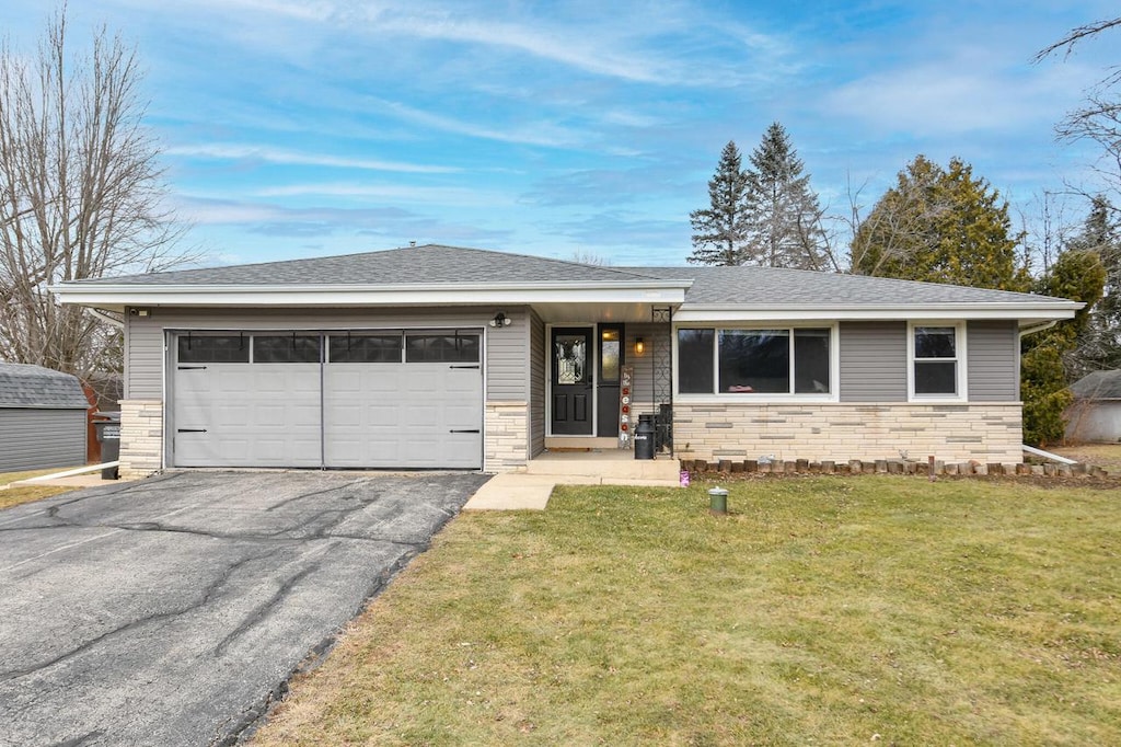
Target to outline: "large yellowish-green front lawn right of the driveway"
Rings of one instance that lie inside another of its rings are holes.
[[[887,477],[465,514],[256,745],[1121,743],[1121,500]]]

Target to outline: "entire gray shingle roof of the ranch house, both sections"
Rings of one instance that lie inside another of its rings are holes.
[[[127,286],[408,286],[433,284],[692,282],[687,305],[860,306],[1064,303],[1025,293],[986,290],[861,275],[770,267],[601,267],[484,249],[426,245],[337,257],[237,265],[80,280]]]

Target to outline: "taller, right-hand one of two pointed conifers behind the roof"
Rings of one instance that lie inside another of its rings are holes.
[[[748,250],[742,264],[824,269],[822,209],[786,129],[772,122],[747,173]]]

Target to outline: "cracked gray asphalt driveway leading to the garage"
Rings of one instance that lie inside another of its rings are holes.
[[[232,744],[485,481],[180,472],[0,511],[0,745]]]

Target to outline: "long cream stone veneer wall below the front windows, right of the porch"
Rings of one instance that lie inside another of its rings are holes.
[[[688,404],[674,403],[682,459],[1021,462],[1020,403]]]

